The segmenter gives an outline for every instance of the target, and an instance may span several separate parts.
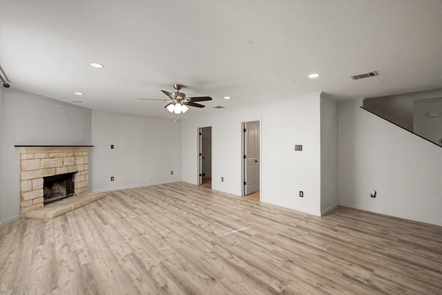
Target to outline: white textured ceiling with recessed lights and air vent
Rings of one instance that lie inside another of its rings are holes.
[[[136,98],[166,99],[174,83],[213,97],[184,117],[422,91],[442,88],[442,1],[0,0],[0,65],[12,88],[156,117],[173,115]]]

